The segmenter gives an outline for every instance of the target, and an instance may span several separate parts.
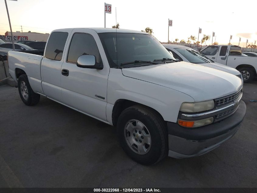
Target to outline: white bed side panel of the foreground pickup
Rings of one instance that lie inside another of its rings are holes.
[[[41,61],[43,56],[24,52],[9,51],[8,64],[11,77],[17,82],[16,69],[23,70],[30,81],[30,86],[35,92],[42,93],[41,86]]]

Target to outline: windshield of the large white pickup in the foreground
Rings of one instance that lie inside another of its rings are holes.
[[[110,67],[132,61],[171,58],[171,54],[152,35],[134,33],[99,33]],[[173,58],[172,58],[173,59]],[[138,65],[138,63],[130,63]]]

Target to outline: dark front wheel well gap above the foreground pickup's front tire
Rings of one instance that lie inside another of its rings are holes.
[[[146,106],[146,105],[142,105],[138,102],[134,102],[134,101],[130,101],[130,100],[127,100],[127,99],[119,99],[115,102],[114,106],[113,106],[113,113],[112,113],[112,121],[113,121],[113,126],[116,126],[117,124],[117,121],[118,121],[118,118],[120,116],[120,113],[127,109],[128,107],[130,106],[134,106],[134,105],[141,105],[141,106],[144,106],[144,107],[147,107],[149,109],[151,109],[152,111],[154,111],[158,116],[160,116],[161,120],[163,120],[163,117],[161,116],[161,114],[156,111],[155,109],[149,107],[149,106]]]

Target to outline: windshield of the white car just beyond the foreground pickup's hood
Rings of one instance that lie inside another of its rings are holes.
[[[192,49],[192,48],[174,48],[181,55],[183,55],[189,62],[193,64],[204,64],[212,63],[213,61],[207,58],[202,53]]]

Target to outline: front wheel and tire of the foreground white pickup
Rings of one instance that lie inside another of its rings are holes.
[[[123,150],[140,164],[157,163],[168,154],[167,127],[148,107],[135,105],[125,109],[118,118],[117,134]]]

